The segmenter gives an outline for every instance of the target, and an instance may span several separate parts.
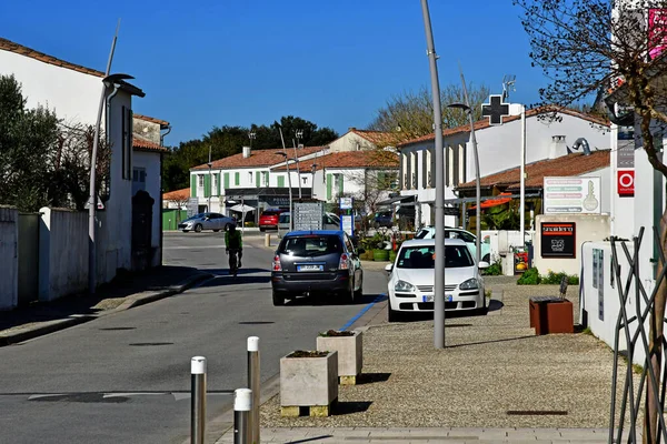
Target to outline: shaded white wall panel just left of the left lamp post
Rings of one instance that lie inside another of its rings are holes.
[[[42,208],[39,232],[39,300],[88,289],[88,213]]]

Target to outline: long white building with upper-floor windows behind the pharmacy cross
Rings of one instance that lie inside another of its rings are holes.
[[[609,148],[608,124],[594,117],[571,110],[560,110],[556,120],[546,119],[545,110],[526,111],[526,163],[566,155],[568,147],[580,138],[590,150]],[[457,201],[455,189],[475,179],[470,127],[442,132],[445,149],[445,200]],[[479,174],[486,176],[509,170],[521,163],[521,122],[519,117],[504,118],[502,125],[490,125],[488,119],[475,123],[479,152]],[[436,176],[435,135],[429,134],[400,143],[400,188],[402,196],[415,196],[418,205],[417,225],[431,224],[435,219]],[[457,210],[446,215],[446,225],[457,225]]]

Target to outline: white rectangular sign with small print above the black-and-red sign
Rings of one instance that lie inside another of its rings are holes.
[[[600,178],[545,178],[545,214],[601,213]]]

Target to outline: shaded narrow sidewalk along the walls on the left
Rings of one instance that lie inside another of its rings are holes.
[[[181,293],[209,274],[186,266],[161,266],[117,276],[94,295],[72,295],[34,302],[0,312],[0,346],[16,344],[93,319]]]

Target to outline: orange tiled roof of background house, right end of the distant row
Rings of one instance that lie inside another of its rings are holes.
[[[398,155],[390,151],[344,151],[330,153],[317,159],[308,159],[301,162],[303,169],[310,171],[312,163],[316,170],[347,169],[347,168],[398,168]],[[295,170],[290,163],[290,170]],[[276,167],[271,171],[286,171],[283,165]]]

